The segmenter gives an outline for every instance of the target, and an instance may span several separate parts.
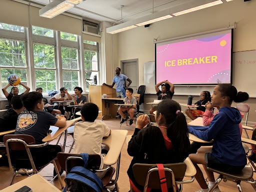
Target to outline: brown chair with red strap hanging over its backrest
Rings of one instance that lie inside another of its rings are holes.
[[[167,188],[173,187],[173,191],[182,191],[182,184],[193,182],[196,173],[195,167],[187,157],[183,162],[163,164]],[[133,175],[136,182],[144,186],[144,192],[147,188],[161,189],[158,168],[156,164],[135,163],[132,166]],[[191,177],[189,180],[183,180],[184,176]],[[176,185],[179,184],[179,188]],[[131,192],[134,190],[131,188]]]

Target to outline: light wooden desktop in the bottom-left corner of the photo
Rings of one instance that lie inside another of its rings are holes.
[[[45,178],[43,178],[39,173],[37,173],[2,189],[1,192],[13,192],[25,185],[31,188],[33,192],[61,191],[49,181],[47,181]]]

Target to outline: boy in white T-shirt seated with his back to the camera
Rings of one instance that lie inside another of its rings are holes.
[[[98,116],[98,106],[92,102],[85,103],[81,108],[82,121],[74,125],[74,150],[73,153],[86,152],[88,154],[99,154],[101,156],[100,169],[106,168],[103,163],[107,146],[101,148],[102,138],[111,134],[108,126],[101,121],[94,121]],[[104,176],[106,171],[97,172],[99,178]]]

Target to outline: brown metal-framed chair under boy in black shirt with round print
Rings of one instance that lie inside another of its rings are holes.
[[[14,172],[13,178],[11,180],[11,184],[13,184],[16,174],[18,170],[21,168],[27,175],[36,174],[38,173],[43,167],[48,165],[50,162],[53,163],[54,169],[57,173],[58,180],[60,182],[61,187],[63,188],[63,183],[61,181],[61,177],[59,175],[55,158],[51,161],[42,164],[42,165],[35,165],[33,161],[33,157],[30,152],[30,148],[39,148],[47,145],[48,143],[42,144],[35,144],[34,137],[31,135],[26,134],[8,134],[3,136],[3,142],[6,146],[8,162],[10,170]],[[27,172],[26,169],[32,169],[32,172]],[[53,175],[54,176],[54,175]],[[53,179],[56,175],[53,177]],[[52,179],[52,180],[53,180]],[[51,181],[52,181],[51,180]]]

